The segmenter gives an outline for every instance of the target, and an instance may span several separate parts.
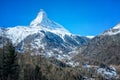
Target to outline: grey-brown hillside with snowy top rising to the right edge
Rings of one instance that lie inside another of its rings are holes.
[[[93,38],[79,55],[107,64],[120,64],[120,24]]]

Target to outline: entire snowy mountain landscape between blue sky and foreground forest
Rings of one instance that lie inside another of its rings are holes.
[[[51,62],[54,64],[59,65],[56,62],[58,59],[66,65],[82,66],[89,72],[91,69],[95,74],[112,79],[117,75],[114,67],[96,65],[99,62],[119,65],[119,33],[120,23],[98,36],[74,35],[62,25],[50,20],[41,10],[29,26],[0,28],[0,48],[3,47],[3,40],[7,44],[10,39],[20,53],[41,54],[53,58],[54,61]],[[51,58],[46,59],[50,61]],[[82,71],[81,67],[79,69]]]

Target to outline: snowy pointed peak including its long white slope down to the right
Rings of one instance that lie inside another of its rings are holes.
[[[50,31],[61,36],[65,34],[71,35],[62,25],[50,20],[43,10],[40,10],[37,17],[30,23],[30,27],[41,27],[42,30]]]

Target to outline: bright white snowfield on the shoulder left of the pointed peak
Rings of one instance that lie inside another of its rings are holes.
[[[13,44],[17,45],[23,39],[25,39],[28,35],[32,35],[37,33],[39,30],[37,28],[30,28],[26,26],[16,26],[13,28],[7,28],[6,35],[10,38]]]

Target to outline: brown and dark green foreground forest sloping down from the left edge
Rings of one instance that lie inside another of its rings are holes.
[[[0,49],[0,80],[80,79],[81,75],[77,70],[57,66],[49,62],[44,56],[32,56],[31,52],[17,53],[10,42]]]

